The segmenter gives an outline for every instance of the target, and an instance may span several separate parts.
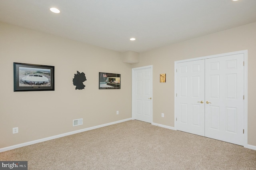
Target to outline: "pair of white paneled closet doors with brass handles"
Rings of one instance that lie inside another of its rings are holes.
[[[244,145],[244,55],[176,64],[176,129]]]

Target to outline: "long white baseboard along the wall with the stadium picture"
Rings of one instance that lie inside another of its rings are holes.
[[[80,132],[84,132],[84,131],[88,131],[88,130],[92,130],[92,129],[96,129],[96,128],[106,127],[106,126],[109,126],[109,125],[114,125],[116,123],[122,123],[122,122],[130,121],[130,120],[132,120],[132,118],[123,119],[123,120],[120,120],[120,121],[106,123],[106,124],[103,124],[103,125],[84,128],[84,129],[80,129],[80,130],[75,130],[75,131],[72,131],[72,132],[58,134],[58,135],[55,135],[55,136],[50,136],[50,137],[47,137],[47,138],[33,140],[33,141],[30,141],[30,142],[16,144],[16,145],[8,146],[8,147],[5,147],[5,148],[0,148],[0,152],[4,152],[4,151],[7,151],[7,150],[12,150],[12,149],[20,148],[20,147],[23,147],[23,146],[28,146],[28,145],[31,145],[31,144],[36,144],[36,143],[39,143],[39,142],[44,142],[44,141],[47,141],[47,140],[52,140],[52,139],[56,139],[56,138],[60,138],[60,137],[64,137],[64,136],[68,136],[68,135],[71,135],[71,134],[76,134],[76,133],[80,133]]]

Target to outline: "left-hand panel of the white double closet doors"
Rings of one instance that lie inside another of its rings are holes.
[[[204,136],[204,60],[177,63],[176,69],[177,130]]]

